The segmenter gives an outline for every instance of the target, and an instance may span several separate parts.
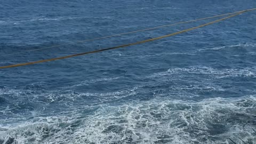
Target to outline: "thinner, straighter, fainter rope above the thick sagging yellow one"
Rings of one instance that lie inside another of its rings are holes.
[[[243,10],[243,11],[237,11],[237,12],[231,12],[231,13],[225,13],[225,14],[220,14],[220,15],[215,15],[215,16],[207,17],[207,18],[201,18],[201,19],[183,21],[183,22],[173,23],[173,24],[170,24],[170,25],[163,25],[163,26],[158,26],[158,27],[153,27],[153,28],[135,30],[135,31],[127,32],[127,33],[121,33],[121,34],[110,35],[110,36],[103,36],[103,37],[98,37],[98,38],[93,38],[93,39],[86,39],[86,40],[84,40],[84,41],[78,41],[78,42],[71,42],[71,43],[67,43],[67,44],[60,44],[60,45],[47,46],[47,47],[42,47],[42,48],[40,48],[40,49],[34,49],[34,50],[28,50],[28,51],[22,51],[22,52],[38,51],[38,50],[50,49],[50,48],[52,48],[52,47],[64,46],[64,45],[69,45],[69,44],[84,43],[84,42],[94,41],[94,40],[97,40],[97,39],[103,39],[103,38],[121,36],[121,35],[132,34],[132,33],[138,33],[138,32],[140,32],[140,31],[153,30],[153,29],[163,28],[163,27],[170,27],[170,26],[179,25],[179,24],[183,24],[183,23],[189,23],[189,22],[194,22],[194,21],[198,21],[198,20],[205,20],[205,19],[217,18],[217,17],[222,17],[222,16],[224,16],[224,15],[229,15],[229,14],[234,14],[234,13],[239,13],[239,12],[245,12],[245,11],[252,11],[252,10],[256,10],[256,8],[254,8],[254,9],[248,9],[248,10]],[[10,54],[4,54],[4,55],[0,55],[0,57],[4,57],[4,56],[6,56],[6,55],[18,54],[18,53],[22,53],[22,52],[15,52],[15,53],[10,53]]]

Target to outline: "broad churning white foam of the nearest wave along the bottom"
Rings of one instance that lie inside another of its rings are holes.
[[[101,105],[0,126],[0,141],[17,143],[228,143],[256,142],[256,95],[203,101],[154,99]]]

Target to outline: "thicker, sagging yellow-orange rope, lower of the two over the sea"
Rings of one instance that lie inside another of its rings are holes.
[[[235,16],[238,15],[238,14],[241,14],[241,13],[244,13],[244,12],[247,12],[247,11],[252,11],[252,10],[256,10],[256,8],[255,8],[255,9],[250,9],[250,10],[244,10],[244,11],[238,12],[238,13],[236,13],[236,14],[230,15],[230,16],[228,16],[228,17],[225,17],[225,18],[222,18],[222,19],[218,19],[218,20],[215,20],[215,21],[212,21],[212,22],[205,23],[204,25],[200,25],[200,26],[197,26],[197,27],[193,27],[193,28],[181,30],[181,31],[178,31],[178,32],[176,32],[176,33],[169,34],[169,35],[164,35],[164,36],[160,36],[160,37],[156,37],[156,38],[147,39],[147,40],[145,40],[145,41],[139,41],[139,42],[135,42],[135,43],[124,44],[124,45],[119,45],[119,46],[115,46],[115,47],[109,47],[109,48],[107,48],[107,49],[95,50],[95,51],[91,51],[91,52],[84,52],[84,53],[72,54],[72,55],[67,55],[67,56],[65,56],[65,57],[58,57],[58,58],[45,59],[45,60],[39,60],[39,61],[33,61],[33,62],[19,63],[19,64],[16,64],[16,65],[2,66],[2,67],[0,67],[0,68],[11,68],[11,67],[19,67],[19,66],[33,65],[33,64],[35,64],[35,63],[42,63],[42,62],[47,62],[47,61],[54,61],[54,60],[60,60],[60,59],[67,59],[67,58],[71,58],[71,57],[77,57],[77,56],[79,56],[79,55],[85,55],[85,54],[90,54],[90,53],[97,53],[97,52],[101,52],[101,51],[113,50],[113,49],[118,49],[118,48],[121,48],[121,47],[126,47],[126,46],[131,46],[131,45],[136,45],[136,44],[151,42],[151,41],[155,41],[155,40],[157,40],[157,39],[161,39],[161,38],[165,38],[165,37],[169,37],[169,36],[173,36],[173,35],[185,33],[185,32],[187,32],[187,31],[190,31],[190,30],[193,30],[193,29],[197,29],[197,28],[201,28],[201,27],[204,27],[204,26],[207,26],[207,25],[211,25],[211,24],[213,24],[213,23],[216,23],[216,22],[219,22],[219,21],[222,21],[222,20],[226,20],[226,19],[228,19],[228,18],[235,17]]]

